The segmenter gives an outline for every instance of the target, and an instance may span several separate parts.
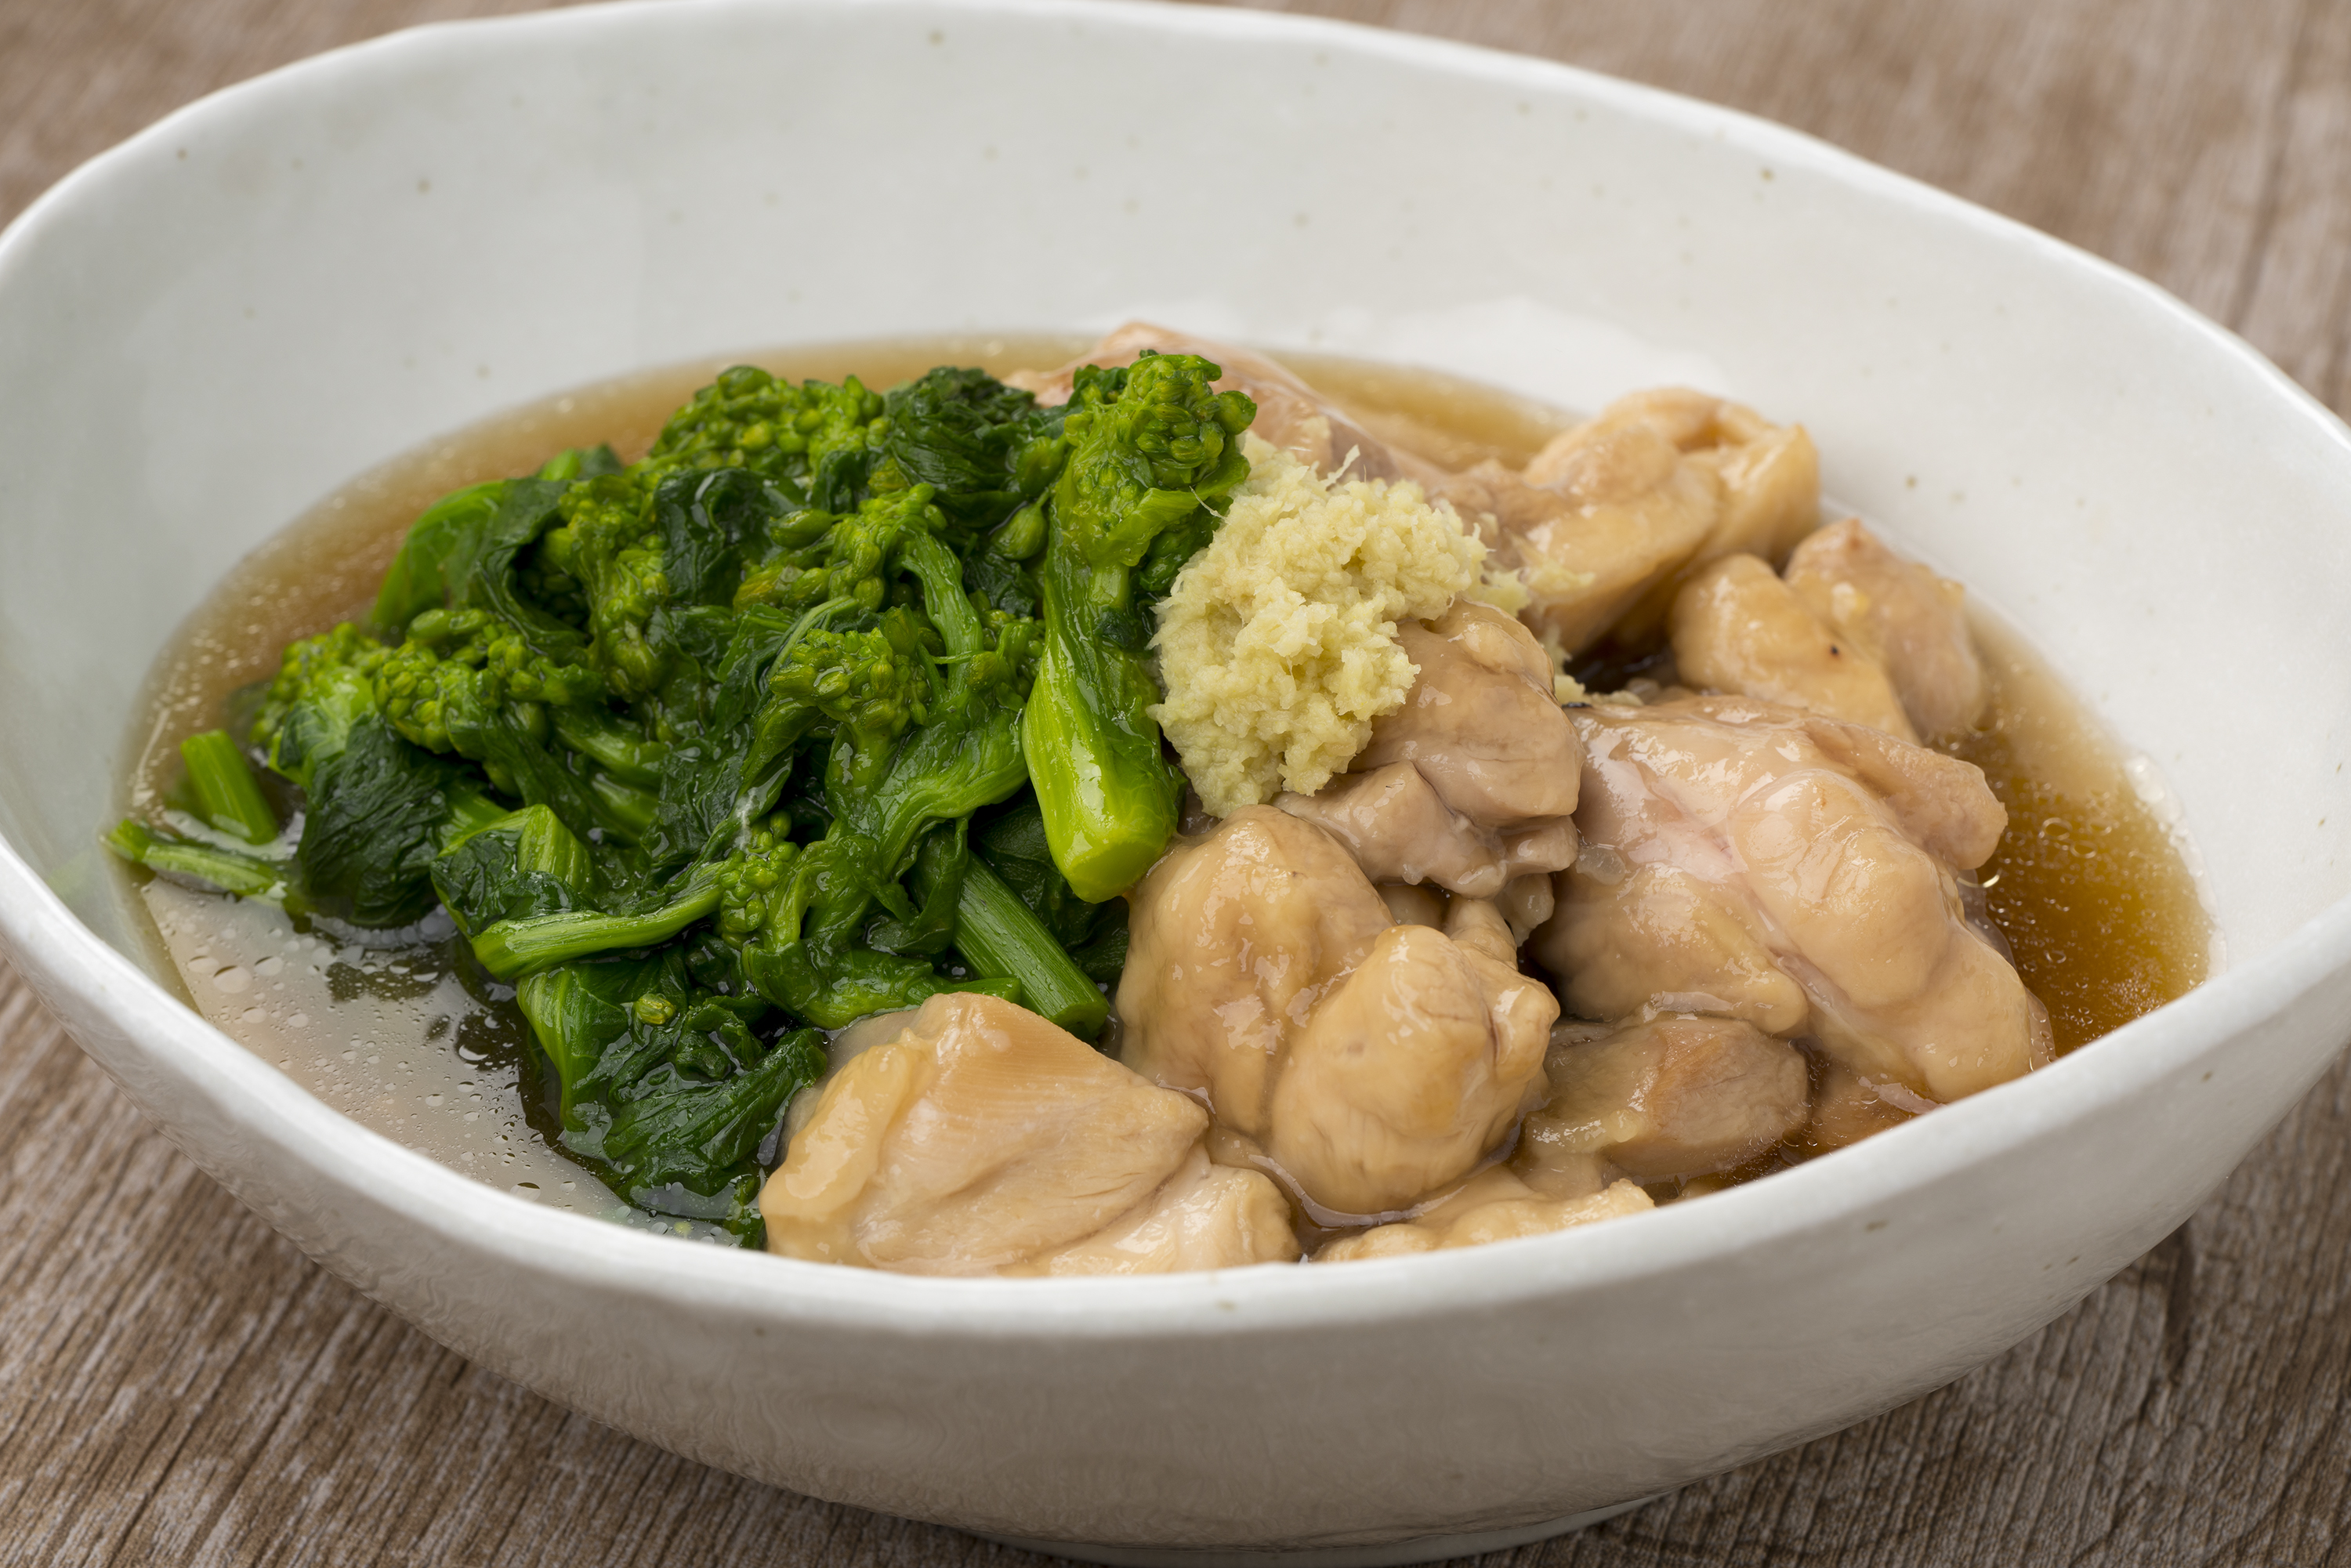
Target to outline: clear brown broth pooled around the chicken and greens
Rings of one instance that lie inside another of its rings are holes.
[[[491,416],[374,468],[247,555],[155,663],[125,780],[129,811],[172,788],[179,743],[277,670],[280,649],[374,602],[409,522],[461,484],[536,470],[567,447],[642,456],[663,421],[726,364],[886,388],[933,364],[992,374],[1060,364],[1067,336],[835,343],[672,364]],[[1523,465],[1573,416],[1436,371],[1326,355],[1284,360],[1371,435],[1448,468]],[[2071,1051],[2179,997],[2208,973],[2212,936],[2179,846],[2114,748],[2020,639],[1980,616],[1991,675],[1984,724],[1949,745],[1984,769],[2010,830],[1984,867],[1994,919]],[[550,1140],[524,1103],[524,1025],[505,994],[468,990],[447,943],[357,945],[296,931],[266,903],[143,877],[160,966],[186,999],[355,1121],[484,1182],[552,1206],[698,1234],[628,1211]],[[430,933],[428,933],[430,936]],[[1768,1173],[1794,1143],[1735,1173]],[[1709,1182],[1719,1185],[1719,1182]],[[1672,1197],[1660,1190],[1655,1197]]]

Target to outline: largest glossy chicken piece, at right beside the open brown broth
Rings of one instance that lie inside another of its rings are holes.
[[[1956,872],[2008,823],[1980,769],[1751,698],[1585,708],[1575,724],[1585,853],[1533,952],[1580,1013],[1813,1034],[1923,1100],[2048,1060],[2048,1013],[1965,919]]]

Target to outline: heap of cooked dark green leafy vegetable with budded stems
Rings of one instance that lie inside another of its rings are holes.
[[[757,1241],[816,1027],[943,990],[1103,1027],[1112,893],[1180,788],[1147,609],[1246,475],[1215,376],[1147,357],[1049,409],[976,369],[729,369],[637,463],[428,508],[364,628],[287,646],[242,736],[277,795],[195,736],[106,844],[299,919],[437,905],[468,983],[515,987],[562,1145]]]

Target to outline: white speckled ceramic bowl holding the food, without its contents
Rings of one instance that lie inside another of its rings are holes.
[[[1836,496],[2163,769],[2231,969],[2024,1081],[1636,1220],[1345,1269],[926,1281],[531,1208],[343,1121],[125,957],[94,842],[141,675],[341,480],[644,364],[1131,313],[1566,404],[1674,378],[1803,418]],[[423,28],[207,99],[0,240],[0,929],[313,1258],[677,1453],[1096,1547],[1526,1537],[2012,1345],[2327,1065],[2346,505],[2346,430],[2144,282],[1549,63],[1046,2]]]

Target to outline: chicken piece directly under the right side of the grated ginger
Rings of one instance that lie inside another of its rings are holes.
[[[1274,804],[1326,827],[1378,882],[1495,898],[1566,867],[1582,748],[1542,646],[1472,599],[1396,637],[1418,668],[1404,705],[1373,724],[1347,773]]]

